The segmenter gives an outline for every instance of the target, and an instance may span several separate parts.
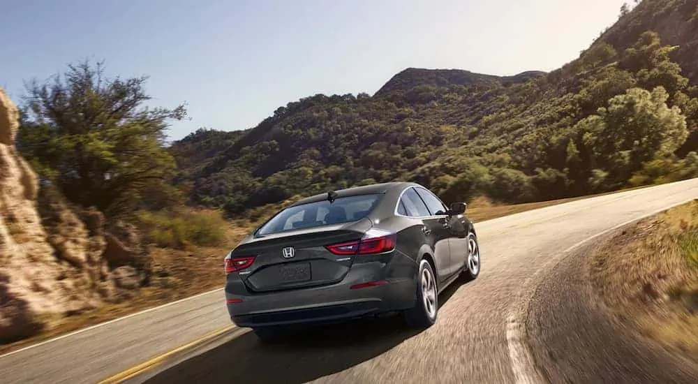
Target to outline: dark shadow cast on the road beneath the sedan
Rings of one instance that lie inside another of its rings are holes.
[[[460,286],[447,288],[441,304]],[[307,383],[371,360],[417,334],[400,316],[318,327],[275,344],[262,344],[246,332],[145,383]]]

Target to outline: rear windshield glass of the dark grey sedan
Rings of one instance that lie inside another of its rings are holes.
[[[257,235],[359,221],[369,216],[381,196],[381,193],[347,196],[337,198],[332,203],[323,200],[288,207],[267,221]]]

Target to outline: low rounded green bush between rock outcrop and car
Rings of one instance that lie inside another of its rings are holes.
[[[228,222],[214,210],[138,213],[147,242],[161,247],[217,246],[225,239]]]

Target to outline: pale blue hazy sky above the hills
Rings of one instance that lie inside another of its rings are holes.
[[[627,0],[0,0],[0,87],[83,59],[186,103],[178,140],[256,126],[314,94],[373,94],[405,68],[491,75],[576,59]],[[628,1],[632,3],[632,1]]]

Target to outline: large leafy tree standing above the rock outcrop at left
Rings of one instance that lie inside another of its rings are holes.
[[[68,66],[52,80],[27,84],[18,147],[66,197],[105,214],[132,212],[146,191],[163,191],[174,158],[165,150],[168,121],[186,116],[149,108],[147,77],[107,79],[103,62]]]

